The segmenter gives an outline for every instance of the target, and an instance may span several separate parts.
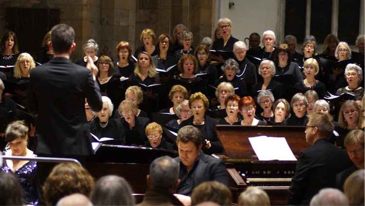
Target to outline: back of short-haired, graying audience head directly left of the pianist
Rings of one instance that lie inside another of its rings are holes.
[[[149,177],[155,189],[169,190],[179,179],[180,165],[169,156],[159,157],[149,166]]]

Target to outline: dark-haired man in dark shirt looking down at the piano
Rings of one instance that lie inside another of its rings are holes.
[[[228,177],[223,161],[201,151],[201,132],[193,126],[179,130],[176,144],[179,148],[181,183],[178,194],[191,195],[194,187],[206,181],[218,181],[228,187]]]

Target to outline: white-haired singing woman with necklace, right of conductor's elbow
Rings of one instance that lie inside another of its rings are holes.
[[[90,132],[99,139],[102,137],[109,137],[112,139],[119,139],[121,144],[125,143],[125,133],[120,121],[110,118],[113,112],[113,103],[107,96],[101,97],[103,101],[103,108],[100,112],[93,112],[95,118],[89,123]]]

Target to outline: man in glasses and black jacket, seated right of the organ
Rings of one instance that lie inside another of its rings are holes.
[[[308,205],[320,189],[335,187],[336,174],[350,167],[346,152],[328,140],[333,130],[332,117],[323,113],[310,114],[305,133],[311,146],[299,154],[289,188],[289,204]]]

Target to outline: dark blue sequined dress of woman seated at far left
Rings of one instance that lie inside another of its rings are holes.
[[[28,205],[38,204],[38,195],[36,187],[36,172],[37,172],[36,161],[27,162],[25,165],[23,165],[23,167],[13,172],[6,164],[6,160],[3,160],[1,171],[9,172],[15,175],[18,182],[23,187],[25,204]]]

